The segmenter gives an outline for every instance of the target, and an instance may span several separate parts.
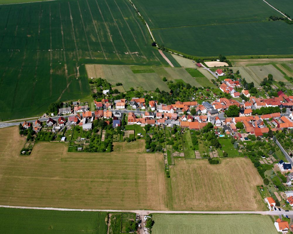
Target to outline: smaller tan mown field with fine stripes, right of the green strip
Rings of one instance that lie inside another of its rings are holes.
[[[249,159],[176,160],[171,166],[173,210],[263,210],[256,188],[263,183]]]

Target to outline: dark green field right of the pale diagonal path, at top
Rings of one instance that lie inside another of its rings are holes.
[[[292,54],[292,25],[268,21],[269,16],[282,15],[264,1],[133,0],[133,3],[149,24],[156,42],[179,52],[202,57],[220,53]]]

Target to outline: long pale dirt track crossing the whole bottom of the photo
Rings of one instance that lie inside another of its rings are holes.
[[[141,215],[148,215],[151,213],[164,213],[164,214],[261,214],[261,215],[280,215],[284,211],[153,211],[153,210],[99,210],[99,209],[68,209],[68,208],[53,208],[53,207],[31,207],[31,206],[4,206],[4,208],[17,208],[17,209],[35,209],[35,210],[56,210],[56,211],[105,211],[105,212],[127,212],[139,213]],[[293,211],[286,212],[287,215],[293,215]]]

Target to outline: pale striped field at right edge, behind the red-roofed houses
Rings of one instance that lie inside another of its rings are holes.
[[[272,74],[276,81],[289,83],[273,65],[233,67],[233,71],[237,70],[240,71],[242,78],[245,78],[248,83],[253,82],[255,86],[259,86],[268,74]]]

